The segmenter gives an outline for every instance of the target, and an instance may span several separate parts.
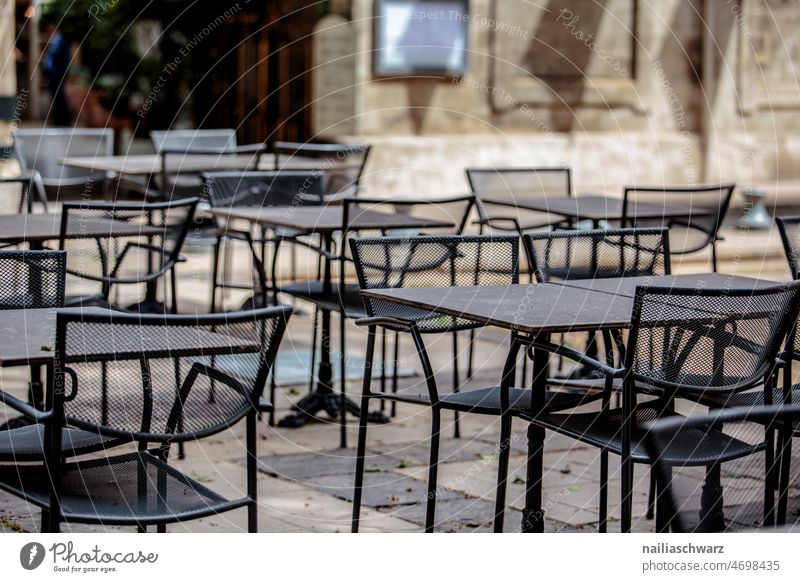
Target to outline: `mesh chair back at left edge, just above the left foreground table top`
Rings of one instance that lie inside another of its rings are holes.
[[[0,310],[63,307],[63,251],[0,251]]]

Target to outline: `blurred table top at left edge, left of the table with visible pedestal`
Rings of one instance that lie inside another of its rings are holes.
[[[70,222],[72,220],[70,219]],[[67,236],[124,237],[163,234],[164,228],[129,224],[119,220],[76,219],[77,231]],[[0,216],[0,243],[43,242],[60,237],[61,213]]]

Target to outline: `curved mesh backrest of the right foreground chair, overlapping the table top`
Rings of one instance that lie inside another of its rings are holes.
[[[627,365],[638,382],[678,394],[725,394],[765,380],[794,325],[800,282],[760,290],[636,292]]]

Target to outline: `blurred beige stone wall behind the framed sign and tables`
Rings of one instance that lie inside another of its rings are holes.
[[[735,181],[800,196],[800,5],[472,0],[469,73],[376,79],[352,0],[355,122],[376,194],[459,192],[466,166],[570,165],[578,191]],[[800,200],[800,198],[798,198]]]

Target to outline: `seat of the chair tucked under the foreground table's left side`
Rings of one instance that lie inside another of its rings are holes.
[[[588,404],[602,396],[601,392],[556,392],[548,390],[545,395],[545,409],[549,411],[566,410],[583,404]],[[379,392],[375,396],[383,400],[396,400],[410,404],[430,406],[430,398],[423,394],[409,392]],[[452,392],[439,396],[443,408],[471,412],[473,414],[500,414],[500,387],[489,386]],[[509,390],[509,403],[515,412],[529,410],[531,406],[531,391],[528,388],[511,388]]]

